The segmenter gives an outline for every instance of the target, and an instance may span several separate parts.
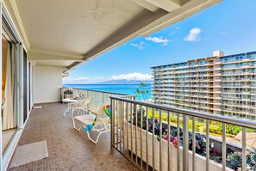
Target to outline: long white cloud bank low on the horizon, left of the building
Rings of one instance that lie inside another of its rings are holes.
[[[152,80],[152,76],[149,74],[141,74],[138,72],[129,73],[129,74],[122,74],[119,76],[111,76],[113,80]]]

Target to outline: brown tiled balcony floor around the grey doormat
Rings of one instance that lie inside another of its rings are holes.
[[[136,170],[116,150],[110,151],[110,134],[103,134],[97,144],[91,143],[84,130],[75,131],[70,115],[63,117],[66,104],[44,104],[34,109],[18,145],[47,140],[49,157],[11,168],[15,170]]]

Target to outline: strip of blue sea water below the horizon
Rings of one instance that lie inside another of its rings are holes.
[[[68,88],[92,89],[106,91],[111,93],[121,93],[127,95],[137,95],[136,89],[140,89],[140,84],[64,84]],[[151,98],[151,85],[147,84],[145,90],[148,90],[147,99]],[[143,90],[143,89],[140,89]],[[142,95],[137,95],[138,100],[144,100]]]

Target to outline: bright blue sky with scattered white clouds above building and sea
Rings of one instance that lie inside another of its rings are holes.
[[[137,37],[79,66],[64,83],[148,80],[152,66],[256,51],[256,0],[223,0],[172,26]]]

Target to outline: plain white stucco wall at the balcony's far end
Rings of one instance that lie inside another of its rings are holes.
[[[60,101],[63,67],[35,66],[34,103]]]

